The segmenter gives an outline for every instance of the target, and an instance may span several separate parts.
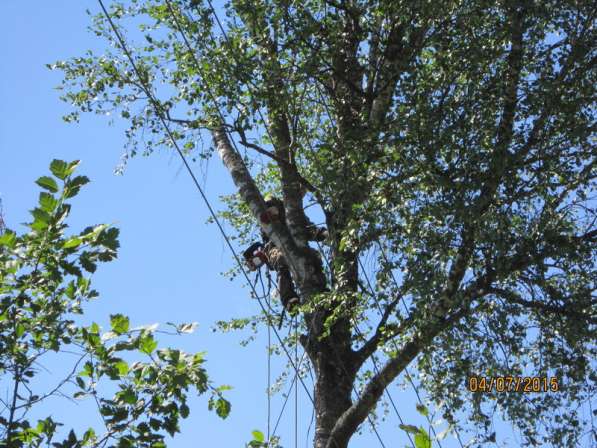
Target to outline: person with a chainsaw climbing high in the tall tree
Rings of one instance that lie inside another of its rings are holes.
[[[266,211],[259,217],[263,224],[270,224],[272,222],[280,222],[286,225],[286,213],[284,211],[284,203],[278,198],[270,198],[265,201]],[[311,241],[323,241],[327,238],[327,229],[317,227],[315,224],[308,225],[309,239]],[[300,303],[298,294],[294,289],[294,282],[290,274],[290,269],[286,258],[282,254],[273,241],[262,231],[261,242],[251,244],[244,252],[243,256],[249,269],[255,271],[264,264],[268,269],[276,271],[276,281],[278,283],[278,293],[284,310],[280,316],[280,325],[284,319],[284,312],[288,311],[290,314],[294,312],[294,308]]]

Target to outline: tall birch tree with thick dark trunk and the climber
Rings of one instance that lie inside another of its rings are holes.
[[[225,216],[247,239],[257,223],[300,290],[316,448],[346,447],[411,365],[479,443],[497,409],[529,446],[574,446],[573,404],[596,379],[592,6],[113,2],[93,18],[111,49],[52,68],[67,120],[128,120],[127,157],[217,151],[238,187]],[[286,222],[259,223],[266,193]],[[307,241],[305,198],[323,248]],[[471,394],[475,375],[562,387]]]

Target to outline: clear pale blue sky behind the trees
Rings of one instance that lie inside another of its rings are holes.
[[[67,0],[4,0],[0,6],[0,195],[6,222],[18,229],[29,219],[27,211],[38,194],[33,182],[45,174],[52,159],[81,159],[80,172],[92,183],[74,204],[73,231],[114,223],[121,230],[122,246],[118,260],[101,266],[94,276],[101,298],[87,307],[86,319],[106,326],[110,313],[122,312],[134,325],[199,322],[195,334],[167,342],[186,351],[207,351],[213,381],[234,387],[228,393],[232,413],[222,421],[207,411],[205,397],[194,400],[182,434],[169,446],[244,446],[253,429],[266,427],[264,334],[243,348],[238,334],[211,331],[215,321],[255,314],[258,307],[241,279],[230,282],[220,275],[232,266],[231,256],[218,229],[205,224],[207,210],[189,177],[166,150],[133,159],[123,176],[115,176],[124,143],[121,123],[109,126],[106,117],[95,115],[83,116],[74,125],[61,120],[70,109],[54,90],[60,74],[45,64],[89,48],[101,51],[103,42],[86,31],[86,8],[98,9],[95,2]],[[205,184],[215,204],[219,194],[232,191],[217,159],[210,161]],[[274,373],[281,367],[281,360],[275,361]],[[412,393],[396,386],[391,390],[407,423],[422,424]],[[299,446],[309,446],[313,431],[307,441],[306,428],[311,408],[301,395]],[[274,418],[280,404],[278,396],[273,400]],[[45,409],[76,428],[93,423],[85,403],[61,400]],[[281,424],[286,448],[294,446],[293,409],[291,404]],[[388,448],[407,444],[394,414],[381,423],[380,433]],[[457,446],[452,437],[442,445]],[[368,427],[351,444],[375,446],[380,445]]]

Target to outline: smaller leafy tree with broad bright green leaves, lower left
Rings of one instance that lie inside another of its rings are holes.
[[[157,349],[155,325],[131,328],[122,314],[110,316],[107,332],[95,322],[79,323],[85,303],[98,297],[88,274],[113,260],[119,243],[118,229],[103,224],[66,235],[68,201],[89,182],[73,175],[77,165],[54,160],[52,176],[37,180],[44,191],[28,231],[0,232],[0,380],[7,393],[0,399],[0,446],[165,447],[165,435],[176,434],[189,415],[191,389],[211,391],[210,408],[226,417],[225,388],[208,380],[201,353]],[[192,329],[183,324],[173,332]],[[54,355],[67,367],[62,377],[47,378],[44,363]],[[132,361],[139,356],[145,359]],[[37,421],[30,416],[44,401],[71,394],[97,405],[103,433],[70,430],[59,441],[60,412]]]

